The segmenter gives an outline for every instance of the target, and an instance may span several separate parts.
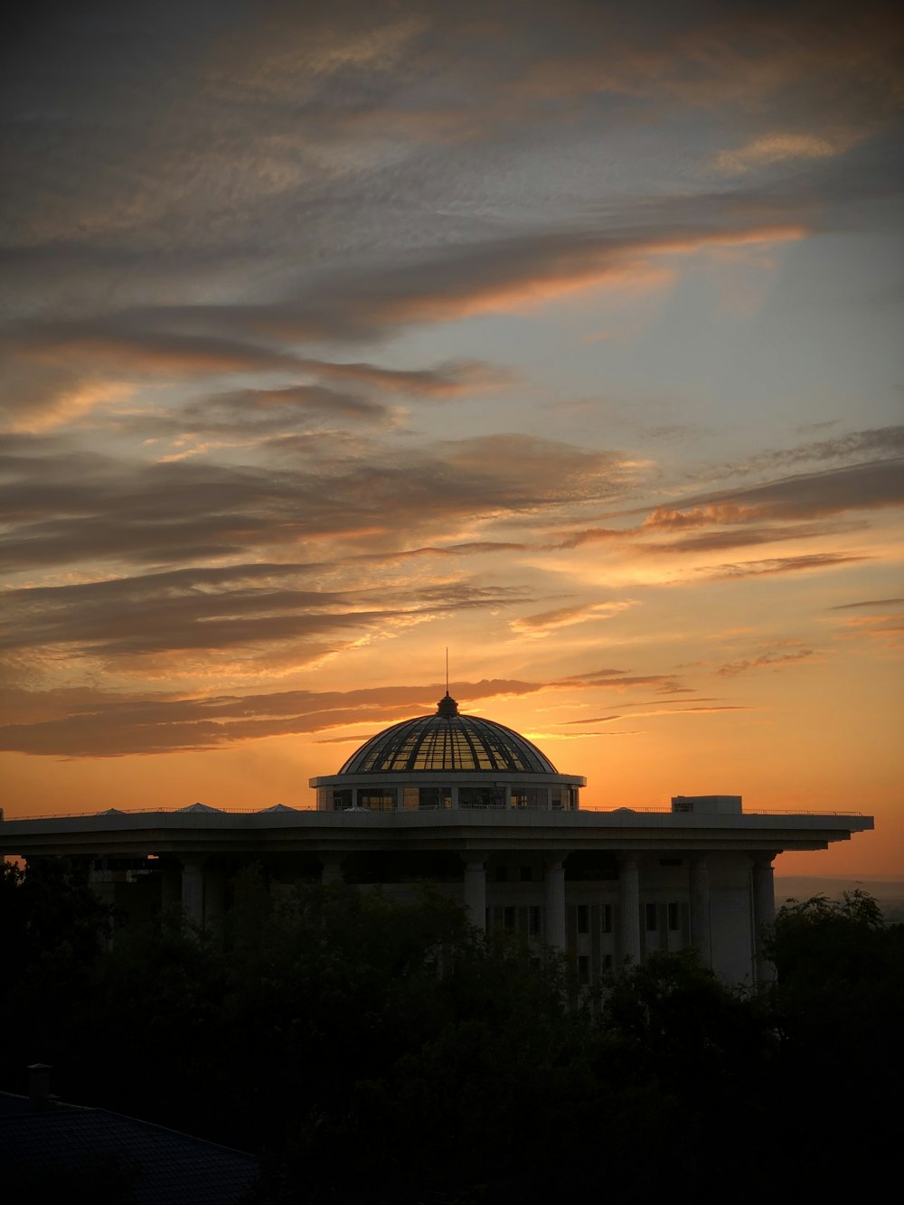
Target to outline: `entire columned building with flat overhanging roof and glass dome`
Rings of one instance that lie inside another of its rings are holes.
[[[581,807],[559,774],[503,724],[435,715],[378,733],[312,807],[177,810],[8,819],[0,853],[81,858],[95,889],[131,919],[181,905],[216,924],[242,864],[271,882],[418,882],[460,900],[480,928],[567,952],[591,984],[626,959],[692,945],[727,982],[769,977],[761,934],[775,911],[773,860],[873,828],[857,812],[745,812],[740,795],[675,795],[668,809]]]

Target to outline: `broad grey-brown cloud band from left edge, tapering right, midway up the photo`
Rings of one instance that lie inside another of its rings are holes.
[[[447,440],[417,452],[377,447],[372,462],[362,451],[325,464],[316,445],[306,463],[295,459],[280,472],[60,459],[42,454],[40,443],[12,447],[5,493],[18,527],[0,537],[0,564],[10,569],[84,557],[202,563],[327,537],[348,551],[387,543],[394,551],[400,530],[448,535],[464,519],[609,496],[634,477],[615,453],[523,435]]]

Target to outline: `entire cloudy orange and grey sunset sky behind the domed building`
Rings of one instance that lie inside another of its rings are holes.
[[[904,872],[896,8],[20,12],[7,817],[310,804],[448,653],[585,805]]]

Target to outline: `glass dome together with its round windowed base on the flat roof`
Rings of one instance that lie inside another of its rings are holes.
[[[559,774],[504,724],[463,716],[448,690],[432,716],[377,733],[339,774],[311,778],[318,811],[542,807],[576,811],[587,780]]]

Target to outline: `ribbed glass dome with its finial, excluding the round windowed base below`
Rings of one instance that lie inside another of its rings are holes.
[[[530,741],[492,719],[459,716],[448,692],[436,713],[386,728],[353,753],[340,774],[381,770],[487,770],[558,774]]]

